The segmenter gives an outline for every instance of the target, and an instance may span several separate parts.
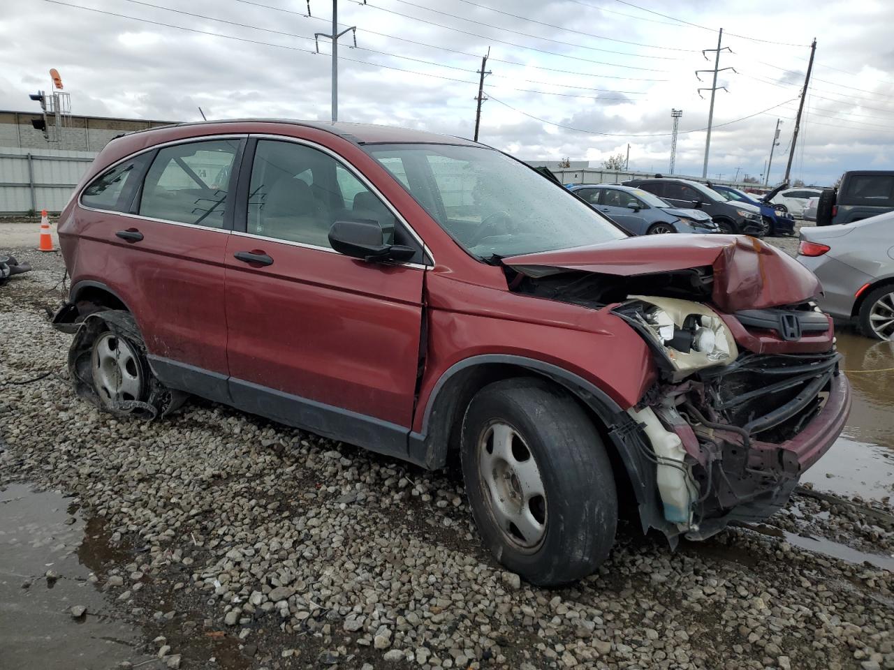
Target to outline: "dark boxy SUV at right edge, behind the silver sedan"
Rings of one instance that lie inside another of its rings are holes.
[[[894,211],[894,171],[845,172],[839,188],[824,188],[816,203],[816,225],[863,221]]]

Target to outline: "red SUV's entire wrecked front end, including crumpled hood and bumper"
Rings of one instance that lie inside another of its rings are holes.
[[[649,345],[656,381],[612,432],[649,464],[644,528],[674,541],[783,507],[850,392],[812,274],[756,239],[672,237],[504,264],[511,289],[609,309]]]

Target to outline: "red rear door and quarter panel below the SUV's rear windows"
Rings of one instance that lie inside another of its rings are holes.
[[[137,244],[115,237],[139,230]],[[60,219],[72,284],[98,281],[124,301],[149,353],[227,372],[223,255],[229,235],[77,207]]]

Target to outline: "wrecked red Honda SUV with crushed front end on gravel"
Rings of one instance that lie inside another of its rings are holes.
[[[785,505],[848,416],[814,276],[746,237],[628,238],[464,139],[231,121],[114,139],[63,211],[77,392],[188,394],[425,468],[537,584],[622,507],[676,542]]]

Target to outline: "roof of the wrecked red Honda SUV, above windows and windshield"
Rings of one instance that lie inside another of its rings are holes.
[[[137,134],[164,134],[170,132],[174,128],[201,127],[220,125],[222,123],[232,123],[239,125],[241,123],[283,123],[296,126],[304,126],[316,130],[324,130],[353,142],[354,144],[452,144],[452,145],[469,145],[475,147],[483,147],[477,142],[473,142],[466,138],[457,138],[450,135],[440,135],[427,130],[415,130],[410,128],[398,128],[395,126],[385,126],[375,123],[348,123],[338,121],[336,123],[326,123],[325,121],[302,121],[297,119],[224,119],[223,121],[191,121],[188,123],[172,123],[166,126],[157,126],[147,130],[137,130],[127,135]],[[233,129],[233,132],[240,130]]]

